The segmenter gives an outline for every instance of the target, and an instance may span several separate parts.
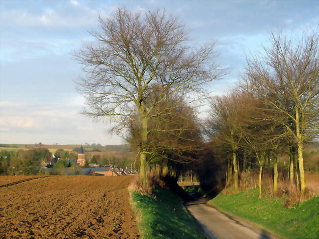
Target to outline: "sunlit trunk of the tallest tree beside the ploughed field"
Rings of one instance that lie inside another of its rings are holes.
[[[147,184],[147,173],[146,173],[146,151],[145,145],[147,144],[147,118],[142,118],[142,146],[140,153],[140,167],[139,167],[139,175],[142,185]]]

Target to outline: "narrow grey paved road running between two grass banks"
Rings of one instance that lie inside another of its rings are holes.
[[[206,205],[206,199],[185,204],[212,239],[279,239],[265,230]]]

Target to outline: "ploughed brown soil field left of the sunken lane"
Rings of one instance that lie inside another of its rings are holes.
[[[133,177],[51,176],[2,187],[0,238],[138,238]]]

